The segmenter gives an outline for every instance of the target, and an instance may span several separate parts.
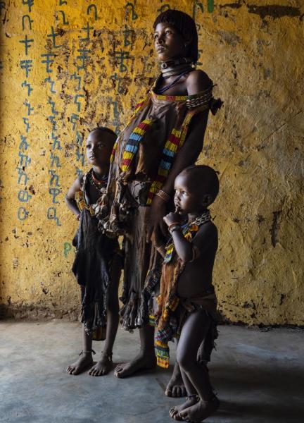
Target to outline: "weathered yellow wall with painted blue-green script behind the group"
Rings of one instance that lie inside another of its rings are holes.
[[[64,195],[89,129],[120,130],[158,74],[151,25],[170,4],[195,16],[200,66],[224,101],[200,158],[220,173],[220,309],[303,324],[303,1],[91,1],[1,1],[3,308],[75,316]]]

